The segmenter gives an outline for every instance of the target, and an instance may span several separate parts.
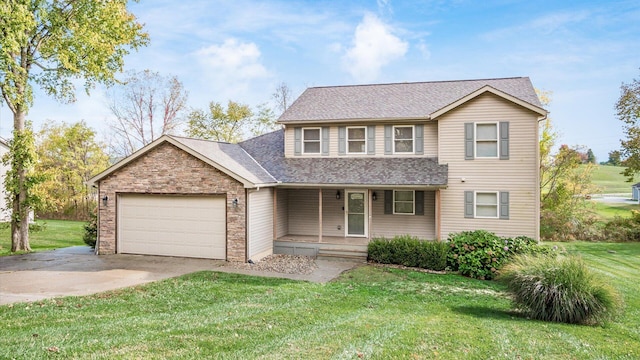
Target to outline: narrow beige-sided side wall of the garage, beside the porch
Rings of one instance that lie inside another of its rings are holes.
[[[247,209],[248,256],[259,260],[273,253],[273,189],[251,190]]]

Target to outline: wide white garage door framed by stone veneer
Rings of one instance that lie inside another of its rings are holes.
[[[118,252],[226,259],[221,196],[118,196]]]

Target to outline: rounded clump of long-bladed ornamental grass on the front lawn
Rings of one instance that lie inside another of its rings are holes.
[[[592,324],[620,310],[619,294],[575,256],[519,255],[498,279],[533,319]]]

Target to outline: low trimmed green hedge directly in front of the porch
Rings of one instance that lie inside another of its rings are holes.
[[[444,270],[447,266],[447,251],[446,243],[401,235],[393,239],[373,239],[369,242],[368,258],[381,264]]]

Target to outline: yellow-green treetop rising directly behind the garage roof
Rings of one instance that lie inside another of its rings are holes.
[[[236,143],[244,137],[253,112],[248,105],[229,100],[227,108],[209,103],[209,112],[193,110],[188,116],[187,136],[205,140]]]

